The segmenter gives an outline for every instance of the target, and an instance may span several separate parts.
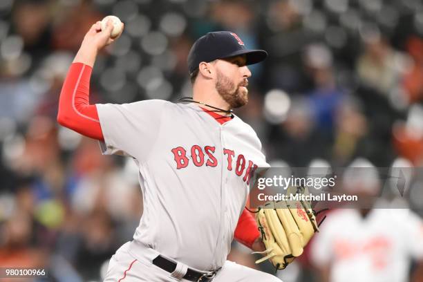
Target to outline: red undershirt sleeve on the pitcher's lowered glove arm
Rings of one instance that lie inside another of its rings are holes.
[[[259,236],[259,228],[257,227],[254,216],[247,209],[244,209],[235,228],[235,240],[251,249],[252,244]]]

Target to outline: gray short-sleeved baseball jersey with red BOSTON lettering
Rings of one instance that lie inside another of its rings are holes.
[[[218,123],[197,104],[147,100],[97,104],[104,154],[139,167],[144,212],[134,240],[198,270],[225,263],[248,194],[250,171],[267,167],[240,118]]]

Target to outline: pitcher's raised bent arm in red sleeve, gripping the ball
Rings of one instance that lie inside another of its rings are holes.
[[[111,21],[105,30],[101,30],[100,21],[91,26],[69,68],[59,99],[57,122],[97,140],[104,137],[97,108],[89,103],[90,78],[98,51],[115,40],[110,37],[112,29]]]

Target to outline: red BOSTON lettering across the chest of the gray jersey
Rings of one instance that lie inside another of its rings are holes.
[[[205,146],[204,148],[194,145],[191,147],[191,160],[196,167],[216,167],[218,160],[214,157],[216,147]],[[189,164],[187,157],[187,150],[183,147],[176,147],[172,149],[173,156],[176,162],[176,169],[184,169]],[[223,153],[227,156],[227,170],[234,170],[237,176],[243,176],[243,181],[250,184],[251,173],[257,168],[251,160],[245,160],[243,154],[236,156],[233,150],[223,149]],[[236,160],[236,165],[233,167],[232,162]],[[248,164],[247,164],[248,162]]]

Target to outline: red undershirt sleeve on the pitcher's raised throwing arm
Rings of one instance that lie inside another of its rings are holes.
[[[92,71],[93,68],[86,64],[71,64],[60,93],[57,122],[89,138],[103,141],[97,108],[89,101]]]

